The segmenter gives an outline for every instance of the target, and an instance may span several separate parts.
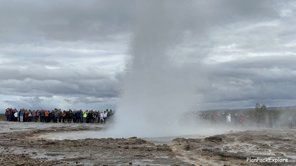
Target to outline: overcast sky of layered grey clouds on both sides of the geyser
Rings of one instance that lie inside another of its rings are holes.
[[[170,26],[183,36],[171,56],[203,66],[196,92],[202,109],[296,105],[295,1],[165,6],[155,15],[170,15]],[[2,0],[0,112],[115,109],[126,54],[141,28],[136,17],[153,8],[136,1]]]

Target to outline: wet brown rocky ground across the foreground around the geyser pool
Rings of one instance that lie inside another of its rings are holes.
[[[39,136],[99,131],[102,124],[0,122],[0,165],[296,165],[296,130],[263,129],[207,138],[176,138],[155,145],[128,139],[52,140]],[[247,157],[281,157],[287,163],[251,163]]]

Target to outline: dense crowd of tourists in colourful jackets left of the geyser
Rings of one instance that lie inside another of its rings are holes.
[[[27,110],[7,108],[5,116],[7,121],[12,122],[43,122],[43,123],[106,123],[115,110],[93,111],[93,110]]]

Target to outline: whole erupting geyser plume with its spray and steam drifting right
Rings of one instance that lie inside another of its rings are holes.
[[[248,14],[244,5],[234,4],[226,12],[222,4],[227,6],[221,1],[137,1],[116,125],[108,132],[114,137],[161,137],[207,131],[194,126],[193,117],[183,118],[200,109],[204,96],[198,89],[211,87],[205,77],[207,51],[194,49],[208,40],[210,27]]]

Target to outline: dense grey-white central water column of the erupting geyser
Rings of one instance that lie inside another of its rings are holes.
[[[172,17],[178,16],[172,10],[178,4],[141,1],[139,5],[117,123],[112,130],[122,137],[185,134],[186,126],[179,120],[192,103],[198,102],[196,84],[189,81],[197,76],[176,66],[176,60],[168,54],[168,48],[183,41],[185,32],[181,17]]]

